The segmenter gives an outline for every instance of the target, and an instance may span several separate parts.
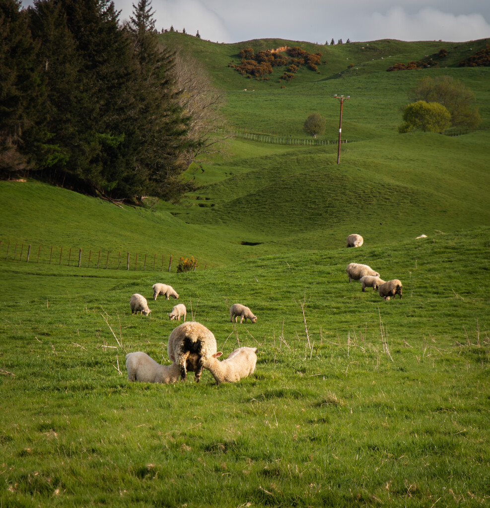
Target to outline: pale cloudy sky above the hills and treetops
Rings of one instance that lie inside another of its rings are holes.
[[[114,0],[121,21],[138,0]],[[23,6],[32,0],[23,0]],[[155,27],[212,42],[286,39],[318,44],[399,39],[466,42],[490,37],[489,0],[152,0]]]

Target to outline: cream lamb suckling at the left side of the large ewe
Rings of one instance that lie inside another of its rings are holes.
[[[175,383],[180,375],[180,368],[172,355],[172,365],[160,365],[146,353],[137,351],[126,355],[128,381],[146,383]],[[187,359],[187,370],[195,372],[198,368],[199,355],[191,353]]]

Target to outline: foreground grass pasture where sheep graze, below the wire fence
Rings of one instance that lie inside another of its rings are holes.
[[[0,503],[486,505],[488,233],[171,274],[225,355],[227,305],[258,315],[236,326],[255,374],[219,387],[208,372],[127,381],[127,352],[168,363],[174,301],[150,300],[149,274],[0,262],[15,289],[1,302]],[[362,293],[350,261],[400,278],[403,299]],[[136,291],[151,318],[131,315]]]

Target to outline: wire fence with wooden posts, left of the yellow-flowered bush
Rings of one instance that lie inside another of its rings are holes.
[[[58,256],[59,253],[59,256]],[[161,260],[160,260],[161,258]],[[153,256],[148,253],[130,251],[110,251],[105,249],[82,249],[73,247],[42,246],[24,242],[6,242],[0,240],[0,260],[36,263],[47,265],[64,265],[74,268],[100,268],[105,270],[157,271],[165,269],[170,272],[173,255],[165,258],[164,254]],[[168,268],[167,268],[168,262]],[[204,270],[207,263],[204,264]],[[193,271],[199,268],[194,263]]]

